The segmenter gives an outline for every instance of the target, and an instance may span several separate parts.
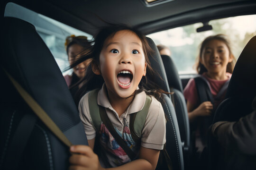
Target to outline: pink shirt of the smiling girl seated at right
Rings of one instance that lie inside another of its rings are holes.
[[[227,80],[211,79],[206,75],[206,73],[203,73],[202,76],[208,80],[208,82],[210,84],[210,92],[212,93],[213,98],[216,97],[216,95],[219,93],[219,90],[221,89],[221,87],[228,80],[228,79]],[[231,74],[227,73],[227,76],[230,78]],[[197,89],[196,89],[196,85],[195,85],[195,80],[193,78],[191,78],[189,80],[188,84],[184,88],[184,96],[185,96],[185,99],[187,101],[189,101],[192,105],[196,105],[196,106],[200,105],[199,99],[198,99],[198,94],[197,94]],[[225,93],[222,95],[222,100],[224,99],[224,97],[225,97]],[[222,100],[220,100],[220,102]],[[217,107],[220,102],[215,103],[215,106]]]

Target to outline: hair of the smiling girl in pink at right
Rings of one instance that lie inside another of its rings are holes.
[[[228,49],[229,49],[229,56],[233,59],[230,63],[228,63],[227,65],[227,72],[229,73],[233,73],[233,70],[234,70],[234,67],[235,67],[235,64],[236,64],[236,59],[231,51],[231,46],[230,46],[230,41],[227,37],[227,35],[224,35],[224,34],[217,34],[217,35],[211,35],[211,36],[208,36],[206,37],[203,42],[201,42],[200,44],[200,51],[199,51],[199,56],[197,58],[197,62],[196,62],[196,70],[198,72],[198,74],[203,74],[204,72],[207,72],[208,70],[203,66],[203,64],[200,62],[200,58],[202,58],[202,51],[203,49],[205,48],[205,45],[207,43],[209,43],[210,41],[212,40],[219,40],[219,41],[222,41],[224,42]]]

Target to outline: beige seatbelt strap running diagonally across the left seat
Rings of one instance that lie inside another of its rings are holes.
[[[70,147],[72,143],[67,139],[59,127],[54,123],[54,121],[47,115],[45,110],[41,108],[41,106],[31,97],[31,95],[27,93],[26,90],[23,89],[12,76],[10,76],[4,68],[3,70],[17,89],[18,93],[25,100],[25,102],[27,102],[28,106],[34,111],[37,117],[42,120],[46,127],[48,127],[52,133],[55,134],[55,136],[57,136],[65,145]]]

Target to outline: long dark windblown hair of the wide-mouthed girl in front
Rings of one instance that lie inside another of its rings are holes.
[[[155,74],[153,69],[150,66],[150,62],[148,59],[148,56],[154,52],[150,45],[148,44],[146,37],[138,32],[136,29],[133,29],[129,26],[124,26],[124,25],[118,25],[118,26],[108,26],[105,28],[102,28],[100,32],[94,37],[94,41],[91,41],[91,48],[90,50],[83,56],[81,56],[80,59],[78,59],[74,64],[70,66],[70,68],[75,67],[82,61],[86,59],[92,59],[92,64],[97,64],[99,65],[100,63],[100,53],[103,48],[104,43],[106,42],[107,39],[112,38],[117,32],[122,31],[122,30],[129,30],[133,33],[135,33],[140,41],[142,42],[142,48],[143,52],[145,54],[145,62],[147,64],[146,67],[146,76],[143,76],[140,83],[139,83],[139,90],[135,91],[135,94],[140,93],[142,91],[145,91],[149,95],[154,95],[156,99],[161,100],[162,98],[162,93],[167,93],[164,90],[162,90],[157,84],[155,84],[155,76],[158,76]],[[89,67],[86,69],[86,74],[85,77],[81,80],[83,81],[83,86],[80,88],[76,95],[76,104],[80,101],[82,96],[95,88],[101,88],[101,86],[104,83],[104,80],[102,76],[95,75],[92,71],[91,64]]]

